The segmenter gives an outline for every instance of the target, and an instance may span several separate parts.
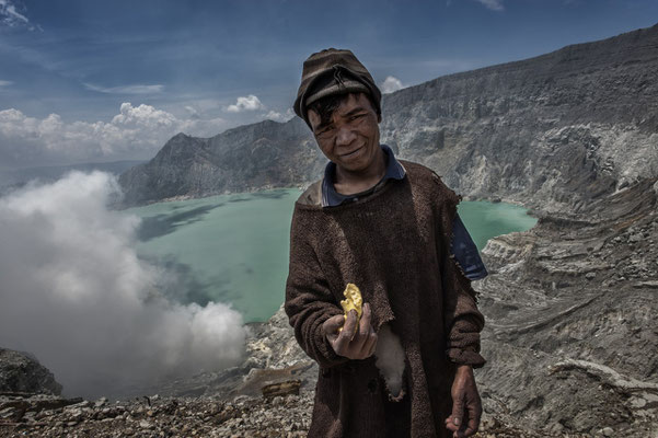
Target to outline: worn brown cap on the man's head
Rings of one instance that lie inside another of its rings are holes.
[[[331,94],[355,92],[370,95],[374,111],[381,114],[381,92],[366,67],[349,50],[327,48],[304,61],[293,105],[295,114],[311,126],[307,115],[311,103]]]

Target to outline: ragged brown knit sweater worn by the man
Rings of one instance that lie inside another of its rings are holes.
[[[384,437],[374,359],[334,353],[322,333],[340,314],[347,283],[388,323],[406,355],[411,437],[447,437],[454,362],[484,364],[470,280],[450,256],[458,196],[429,169],[403,162],[407,177],[332,208],[297,203],[285,309],[295,335],[320,365],[310,437]]]

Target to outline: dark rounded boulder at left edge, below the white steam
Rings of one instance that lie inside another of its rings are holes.
[[[0,348],[0,392],[61,394],[61,384],[35,358]]]

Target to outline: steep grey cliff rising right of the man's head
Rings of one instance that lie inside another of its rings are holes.
[[[386,96],[382,137],[457,192],[545,211],[658,174],[658,26]]]

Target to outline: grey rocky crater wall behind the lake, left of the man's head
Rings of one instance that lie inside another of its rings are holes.
[[[212,138],[178,134],[119,183],[126,205],[303,185],[322,171],[321,155],[301,119],[266,120]]]

